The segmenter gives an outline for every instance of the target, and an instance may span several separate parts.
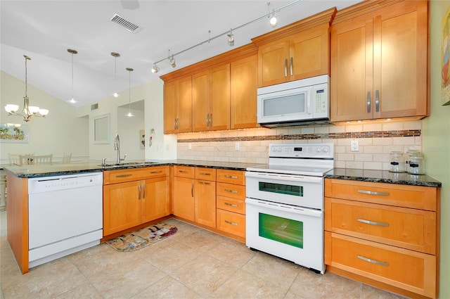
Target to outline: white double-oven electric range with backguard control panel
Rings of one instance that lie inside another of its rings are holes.
[[[269,165],[248,167],[246,245],[323,274],[324,175],[333,144],[270,144]]]

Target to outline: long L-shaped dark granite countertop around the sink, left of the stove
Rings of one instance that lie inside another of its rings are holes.
[[[141,163],[141,164],[129,164]],[[52,165],[22,165],[9,166],[3,165],[4,169],[12,172],[17,177],[53,177],[57,175],[75,174],[83,172],[103,172],[107,170],[123,170],[141,167],[153,167],[164,165],[183,165],[183,166],[198,166],[207,168],[217,168],[226,170],[246,170],[247,167],[255,166],[255,163],[233,163],[233,162],[214,162],[203,160],[145,160],[145,161],[127,161],[122,165],[109,164],[106,167],[101,165],[101,162],[94,161],[89,163],[70,163]]]

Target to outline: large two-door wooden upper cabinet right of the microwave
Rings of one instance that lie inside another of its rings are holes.
[[[333,122],[429,113],[428,1],[385,3],[338,12],[331,26]]]

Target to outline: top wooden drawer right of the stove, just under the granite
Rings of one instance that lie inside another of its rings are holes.
[[[437,188],[325,179],[325,196],[435,211]]]

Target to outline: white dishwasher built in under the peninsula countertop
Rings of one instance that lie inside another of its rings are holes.
[[[29,267],[95,246],[103,237],[103,173],[28,179]]]

